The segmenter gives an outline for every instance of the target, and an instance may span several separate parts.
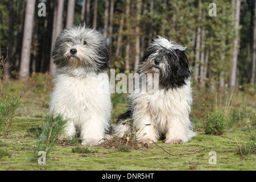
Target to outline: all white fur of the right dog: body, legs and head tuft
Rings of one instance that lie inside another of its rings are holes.
[[[185,50],[185,47],[160,36],[150,46],[160,46],[171,51]],[[129,96],[133,126],[139,129],[136,133],[137,139],[144,143],[152,143],[160,139],[163,134],[168,144],[186,143],[191,140],[196,133],[192,131],[192,123],[189,119],[192,105],[190,80],[186,80],[186,85],[181,88],[160,89],[158,93],[155,92],[156,90],[148,90],[147,93],[134,92]],[[158,98],[152,99],[154,98],[152,94]],[[129,126],[119,124],[115,127],[115,133],[122,137],[129,129]]]

